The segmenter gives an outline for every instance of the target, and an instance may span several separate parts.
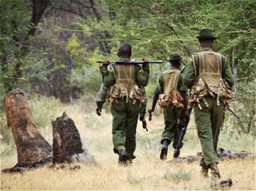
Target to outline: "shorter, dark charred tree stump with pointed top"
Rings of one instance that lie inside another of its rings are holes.
[[[97,164],[94,156],[83,146],[74,121],[64,112],[52,121],[53,162],[82,162]]]

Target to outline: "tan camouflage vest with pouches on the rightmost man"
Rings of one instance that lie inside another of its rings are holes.
[[[232,98],[232,93],[229,90],[228,84],[222,79],[222,58],[221,54],[209,51],[198,53],[199,57],[199,74],[195,78],[194,85],[191,88],[191,97],[188,101],[190,107],[193,107],[194,102],[200,106],[202,99],[208,107],[207,101],[204,96],[210,94],[213,98],[217,98],[217,105],[219,105],[219,98],[224,98],[225,104],[228,104]],[[192,56],[195,76],[196,65],[194,56]]]

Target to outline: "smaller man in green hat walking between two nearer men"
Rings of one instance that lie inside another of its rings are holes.
[[[148,110],[149,113],[154,112],[155,105],[160,95],[160,107],[164,114],[165,128],[162,134],[161,144],[163,147],[160,153],[160,159],[165,160],[167,158],[168,145],[173,141],[173,148],[176,148],[179,142],[179,136],[182,130],[182,126],[177,124],[178,119],[188,118],[187,107],[187,88],[182,83],[182,75],[180,74],[179,67],[181,65],[182,58],[178,53],[170,54],[171,67],[165,72],[161,72],[158,75],[157,85],[154,91],[154,98],[152,102],[152,108]],[[184,112],[182,112],[184,110]],[[178,148],[182,148],[183,143]]]

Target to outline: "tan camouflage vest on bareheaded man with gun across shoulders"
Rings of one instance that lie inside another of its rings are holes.
[[[126,103],[129,99],[139,102],[140,107],[145,102],[145,89],[135,82],[135,65],[134,64],[116,64],[114,76],[116,83],[109,91],[109,105],[118,103],[118,99],[126,98]],[[113,72],[114,69],[112,68]]]

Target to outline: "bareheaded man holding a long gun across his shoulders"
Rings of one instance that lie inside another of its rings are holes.
[[[130,61],[132,47],[123,44],[118,48],[117,56],[122,61]],[[146,60],[146,59],[143,59]],[[119,155],[119,163],[135,158],[136,127],[139,107],[145,102],[145,91],[149,80],[149,65],[142,68],[138,64],[114,64],[108,71],[109,60],[100,66],[102,81],[109,90],[109,104],[113,115],[112,134],[114,152]]]

